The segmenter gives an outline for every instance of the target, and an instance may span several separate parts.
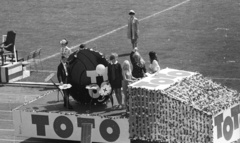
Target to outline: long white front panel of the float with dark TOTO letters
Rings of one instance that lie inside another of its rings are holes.
[[[92,124],[93,142],[130,143],[128,119],[59,113],[13,111],[15,135],[80,141],[83,124]]]

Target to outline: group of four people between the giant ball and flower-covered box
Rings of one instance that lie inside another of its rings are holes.
[[[114,105],[111,95],[110,99],[113,109],[124,109],[126,107],[129,84],[147,77],[149,74],[155,74],[160,71],[157,54],[154,51],[149,52],[149,59],[150,65],[147,70],[146,62],[138,52],[137,47],[130,53],[131,63],[129,60],[124,60],[123,63],[120,64],[118,62],[118,55],[116,53],[111,54],[108,65],[108,80],[118,102],[118,105]],[[123,94],[121,91],[123,91]],[[123,101],[122,95],[124,95]]]

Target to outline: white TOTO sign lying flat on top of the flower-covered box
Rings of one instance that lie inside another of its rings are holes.
[[[164,90],[176,82],[181,81],[183,78],[190,77],[196,73],[175,69],[162,69],[157,74],[150,74],[148,77],[145,77],[133,84],[131,87],[141,87],[152,90]]]

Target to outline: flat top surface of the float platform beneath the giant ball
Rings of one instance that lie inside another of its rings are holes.
[[[59,98],[59,101],[58,101]],[[116,102],[115,102],[116,103]],[[57,90],[45,93],[38,99],[30,101],[19,107],[18,110],[30,111],[30,112],[54,112],[54,113],[70,113],[70,114],[90,114],[100,116],[117,116],[124,117],[126,110],[113,110],[111,102],[107,102],[102,105],[79,104],[70,97],[70,104],[73,109],[67,109],[63,106],[63,97]]]

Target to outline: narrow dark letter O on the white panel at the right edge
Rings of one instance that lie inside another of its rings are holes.
[[[227,131],[227,126],[230,126],[229,131]],[[232,134],[233,134],[233,121],[232,121],[231,117],[227,116],[223,123],[224,138],[228,141],[232,138]]]

